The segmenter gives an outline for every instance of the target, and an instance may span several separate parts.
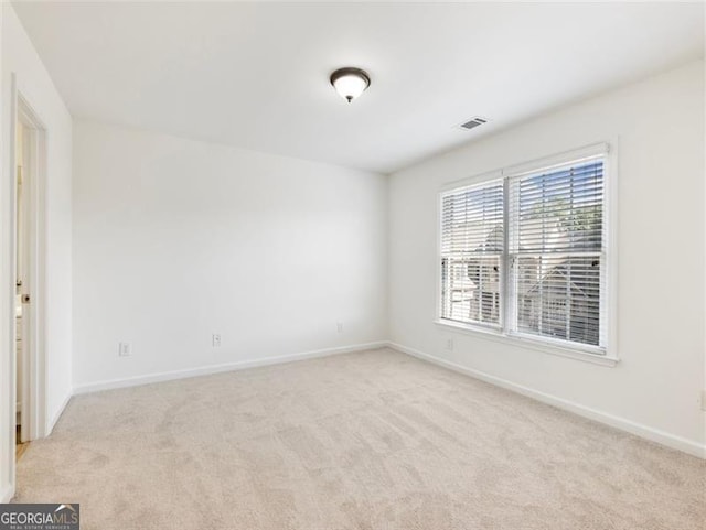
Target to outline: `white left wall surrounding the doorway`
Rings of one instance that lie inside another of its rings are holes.
[[[0,336],[2,337],[1,389],[2,402],[14,407],[8,393],[13,372],[10,359],[14,349],[14,331],[9,326],[13,318],[14,285],[12,262],[12,193],[13,175],[10,149],[11,126],[11,74],[15,74],[18,89],[42,119],[47,131],[45,216],[45,355],[46,355],[46,431],[63,410],[72,390],[72,119],[56,91],[44,65],[20,24],[12,6],[2,3],[2,159],[0,165]],[[10,289],[8,288],[10,286]],[[7,413],[3,405],[3,414]],[[14,447],[8,425],[13,420],[4,415],[2,421],[2,475],[0,488],[4,498],[6,488],[13,483]]]

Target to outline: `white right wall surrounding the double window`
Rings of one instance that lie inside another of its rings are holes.
[[[445,183],[619,138],[614,368],[435,325]],[[704,66],[543,116],[398,172],[389,183],[391,339],[528,393],[705,455]],[[454,349],[447,351],[447,338]],[[515,387],[517,388],[517,387]],[[544,396],[543,396],[544,394]]]

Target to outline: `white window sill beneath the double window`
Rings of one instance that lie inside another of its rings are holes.
[[[559,357],[567,357],[569,359],[580,360],[582,363],[590,363],[593,365],[614,367],[620,363],[620,359],[610,355],[592,354],[584,351],[581,349],[563,347],[550,344],[542,339],[533,339],[522,335],[504,335],[493,329],[483,329],[480,327],[469,326],[460,323],[453,323],[443,320],[436,320],[434,323],[438,326],[450,328],[454,332],[463,333],[467,335],[473,335],[485,340],[493,340],[496,343],[506,344],[516,348],[528,348],[537,351],[542,351],[548,355],[556,355]]]

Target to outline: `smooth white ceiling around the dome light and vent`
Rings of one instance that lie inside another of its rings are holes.
[[[384,173],[704,50],[700,2],[14,6],[74,116]]]

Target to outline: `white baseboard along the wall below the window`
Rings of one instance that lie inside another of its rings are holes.
[[[613,414],[609,414],[607,412],[602,412],[596,409],[591,409],[589,407],[585,407],[582,404],[576,403],[567,399],[563,399],[556,396],[541,392],[538,390],[534,390],[532,388],[514,383],[506,379],[491,376],[490,374],[474,370],[472,368],[467,368],[464,366],[457,365],[456,363],[441,359],[434,355],[419,351],[418,349],[403,346],[402,344],[388,342],[387,346],[403,354],[407,354],[413,357],[427,360],[429,363],[442,366],[453,371],[466,374],[467,376],[471,376],[475,379],[490,382],[491,385],[495,385],[498,387],[502,387],[513,392],[521,393],[522,396],[526,396],[537,401],[542,401],[543,403],[557,407],[558,409],[573,412],[584,418],[588,418],[589,420],[593,420],[599,423],[605,423],[606,425],[610,425],[612,428],[629,432],[631,434],[643,437],[645,440],[650,440],[651,442],[656,442],[661,445],[665,445],[667,447],[682,451],[693,456],[697,456],[699,458],[706,459],[706,444],[699,444],[698,442],[694,442],[692,440],[687,440],[682,436],[676,436],[674,434],[667,433],[665,431],[661,431],[659,429],[653,429],[651,426],[637,423],[631,420],[627,420],[624,418],[620,418]]]

